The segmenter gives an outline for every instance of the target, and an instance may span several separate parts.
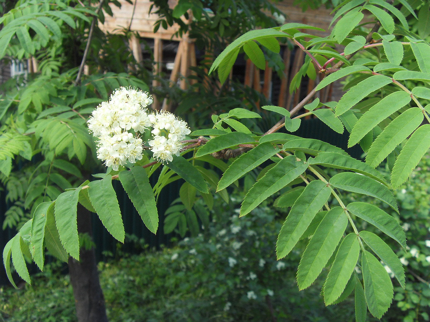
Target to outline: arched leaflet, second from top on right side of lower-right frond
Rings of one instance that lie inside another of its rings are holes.
[[[387,185],[384,176],[382,176],[378,170],[373,169],[369,164],[365,164],[349,155],[341,155],[336,152],[320,152],[315,158],[309,158],[307,162],[309,164],[321,164],[325,167],[335,169],[355,171]]]

